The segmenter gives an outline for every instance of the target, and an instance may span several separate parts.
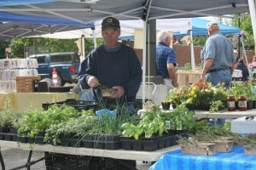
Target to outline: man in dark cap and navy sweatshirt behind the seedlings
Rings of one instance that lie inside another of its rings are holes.
[[[132,102],[142,82],[142,69],[135,51],[119,43],[119,20],[102,21],[104,44],[93,49],[79,67],[81,88],[113,88],[116,93],[103,98],[105,103]],[[96,97],[96,96],[95,96]]]

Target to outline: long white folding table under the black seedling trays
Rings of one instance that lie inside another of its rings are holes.
[[[51,144],[25,144],[14,141],[0,140],[0,149],[9,147],[21,150],[48,151],[61,154],[79,155],[79,156],[101,156],[114,159],[135,160],[135,161],[157,161],[160,156],[168,151],[179,149],[179,145],[173,145],[161,150],[142,151],[142,150],[99,150],[91,148],[75,148],[65,146],[55,146]],[[31,154],[30,154],[31,155]],[[0,150],[1,161],[1,150]],[[3,159],[2,159],[3,161]],[[3,165],[2,165],[2,169]]]

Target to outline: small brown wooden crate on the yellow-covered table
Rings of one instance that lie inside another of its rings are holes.
[[[35,81],[40,80],[41,77],[16,77],[16,91],[17,93],[27,93],[35,91]]]

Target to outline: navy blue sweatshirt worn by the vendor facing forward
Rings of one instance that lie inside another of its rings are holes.
[[[113,50],[102,45],[93,49],[79,67],[78,81],[82,88],[90,88],[87,79],[97,77],[101,85],[125,89],[128,101],[135,99],[142,82],[142,68],[134,50],[119,44]]]

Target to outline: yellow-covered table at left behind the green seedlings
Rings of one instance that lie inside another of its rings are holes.
[[[9,99],[15,111],[26,111],[30,108],[40,109],[44,102],[55,103],[66,99],[79,99],[79,95],[68,93],[0,93],[0,109]]]

